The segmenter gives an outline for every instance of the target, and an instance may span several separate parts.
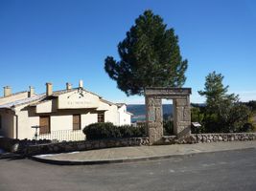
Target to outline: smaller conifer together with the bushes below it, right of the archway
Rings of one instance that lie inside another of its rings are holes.
[[[216,72],[206,76],[204,91],[198,92],[206,96],[206,106],[204,110],[192,109],[192,121],[200,121],[204,133],[251,131],[249,108],[239,102],[238,96],[227,94],[228,86],[222,85],[222,79]]]

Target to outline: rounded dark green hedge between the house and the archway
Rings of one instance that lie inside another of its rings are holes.
[[[115,126],[111,122],[92,123],[82,130],[87,139],[139,138],[146,135],[145,126]]]

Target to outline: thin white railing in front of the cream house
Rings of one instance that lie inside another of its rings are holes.
[[[59,130],[52,131],[50,134],[38,135],[36,139],[50,139],[50,140],[84,140],[85,135],[81,130]]]

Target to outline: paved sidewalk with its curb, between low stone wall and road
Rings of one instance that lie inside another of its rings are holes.
[[[100,164],[138,161],[147,159],[167,159],[198,153],[218,152],[238,149],[256,149],[256,141],[232,141],[197,144],[173,144],[159,146],[118,147],[72,153],[38,155],[37,161],[61,164]]]

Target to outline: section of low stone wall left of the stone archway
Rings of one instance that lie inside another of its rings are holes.
[[[149,145],[149,138],[116,138],[99,140],[66,141],[49,144],[30,145],[19,149],[19,153],[26,156],[38,154],[64,153],[72,151],[86,151],[111,147]]]

